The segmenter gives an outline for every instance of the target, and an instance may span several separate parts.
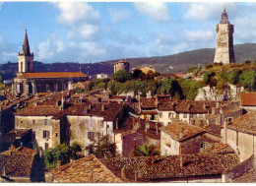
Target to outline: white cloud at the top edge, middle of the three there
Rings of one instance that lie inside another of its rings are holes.
[[[150,16],[154,21],[169,21],[167,6],[162,2],[135,2],[134,6],[142,15]]]

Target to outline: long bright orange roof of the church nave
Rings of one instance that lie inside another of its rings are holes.
[[[24,73],[16,79],[35,79],[35,78],[85,78],[87,77],[82,72],[38,72],[38,73]]]

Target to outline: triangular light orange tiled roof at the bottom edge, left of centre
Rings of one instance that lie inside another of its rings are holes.
[[[52,170],[54,179],[61,183],[97,182],[120,183],[109,169],[105,167],[94,155],[88,155]]]

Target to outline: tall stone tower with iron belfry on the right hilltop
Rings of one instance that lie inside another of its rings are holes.
[[[223,12],[220,24],[216,25],[216,52],[215,63],[234,63],[233,52],[233,25],[228,22],[227,13]]]

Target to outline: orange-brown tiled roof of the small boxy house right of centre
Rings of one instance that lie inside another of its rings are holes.
[[[186,124],[183,121],[177,121],[160,128],[160,131],[167,133],[171,136],[172,139],[176,141],[183,141],[195,135],[201,134],[204,132],[200,127],[194,125]],[[180,136],[180,133],[183,133]]]

